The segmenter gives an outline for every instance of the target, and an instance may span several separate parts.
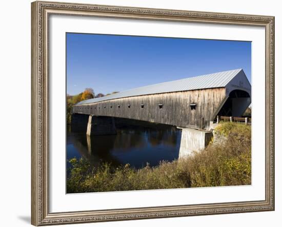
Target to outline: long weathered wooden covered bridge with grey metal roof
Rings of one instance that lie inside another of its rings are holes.
[[[103,122],[105,133],[110,132],[111,117],[208,130],[217,115],[239,117],[250,104],[250,82],[243,69],[236,69],[84,100],[73,106],[72,121],[89,118],[89,135],[95,131],[93,124],[97,127]]]

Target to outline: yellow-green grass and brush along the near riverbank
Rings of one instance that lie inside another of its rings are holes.
[[[226,139],[213,142],[193,156],[162,161],[136,170],[129,164],[115,168],[102,163],[98,168],[85,159],[70,160],[68,193],[175,189],[251,184],[251,127],[221,123],[216,135]],[[217,136],[218,137],[218,136]]]

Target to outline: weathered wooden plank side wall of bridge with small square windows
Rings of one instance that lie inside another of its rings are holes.
[[[195,128],[202,128],[203,117],[204,128],[207,128],[209,121],[213,120],[211,116],[225,96],[225,88],[150,94],[76,105],[72,108],[72,113],[122,117]],[[191,110],[190,104],[196,104],[196,109]],[[163,105],[163,108],[160,109],[159,105]]]

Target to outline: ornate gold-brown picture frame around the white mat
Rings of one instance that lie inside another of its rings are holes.
[[[48,225],[274,210],[274,17],[167,9],[33,2],[31,223]],[[48,17],[50,14],[261,26],[266,30],[266,196],[262,201],[49,212]]]

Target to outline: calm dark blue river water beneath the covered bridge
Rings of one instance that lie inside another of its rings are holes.
[[[149,162],[157,166],[159,161],[178,158],[181,131],[175,127],[122,126],[116,135],[87,136],[86,132],[67,133],[67,159],[86,158],[94,166],[110,162],[115,166],[129,163],[140,169]],[[70,164],[67,164],[70,167]]]

